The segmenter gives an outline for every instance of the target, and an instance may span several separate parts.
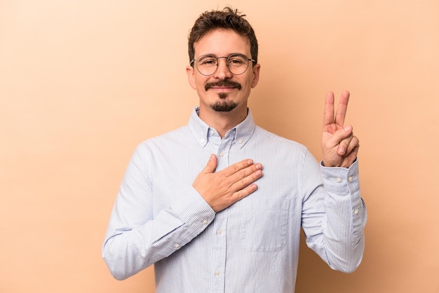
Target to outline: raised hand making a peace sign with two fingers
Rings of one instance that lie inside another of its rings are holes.
[[[358,138],[353,135],[352,125],[344,125],[349,92],[345,90],[342,93],[336,113],[334,100],[334,93],[326,94],[322,131],[323,165],[349,168],[355,161],[360,147]]]

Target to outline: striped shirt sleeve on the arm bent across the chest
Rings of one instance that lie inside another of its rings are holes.
[[[153,215],[147,152],[141,146],[128,164],[102,245],[102,257],[117,280],[168,257],[215,218],[215,212],[192,186],[182,190],[172,205]]]

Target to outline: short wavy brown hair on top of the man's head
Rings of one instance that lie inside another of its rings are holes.
[[[194,43],[215,29],[232,29],[236,34],[245,36],[250,41],[251,58],[257,63],[257,39],[250,23],[245,20],[245,14],[237,9],[225,7],[222,11],[205,11],[194,23],[189,33],[189,62],[194,60]],[[192,64],[194,66],[194,64]]]

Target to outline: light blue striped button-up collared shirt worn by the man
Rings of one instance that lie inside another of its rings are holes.
[[[367,218],[357,161],[325,168],[250,110],[221,138],[197,111],[142,142],[128,164],[102,247],[114,278],[154,264],[157,293],[294,292],[301,226],[331,268],[357,268]],[[251,158],[264,172],[254,193],[217,213],[191,186],[210,154],[217,170]]]

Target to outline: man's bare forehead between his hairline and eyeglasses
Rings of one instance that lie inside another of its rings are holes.
[[[250,54],[250,41],[231,29],[215,29],[194,43],[195,55],[228,56],[232,53]]]

